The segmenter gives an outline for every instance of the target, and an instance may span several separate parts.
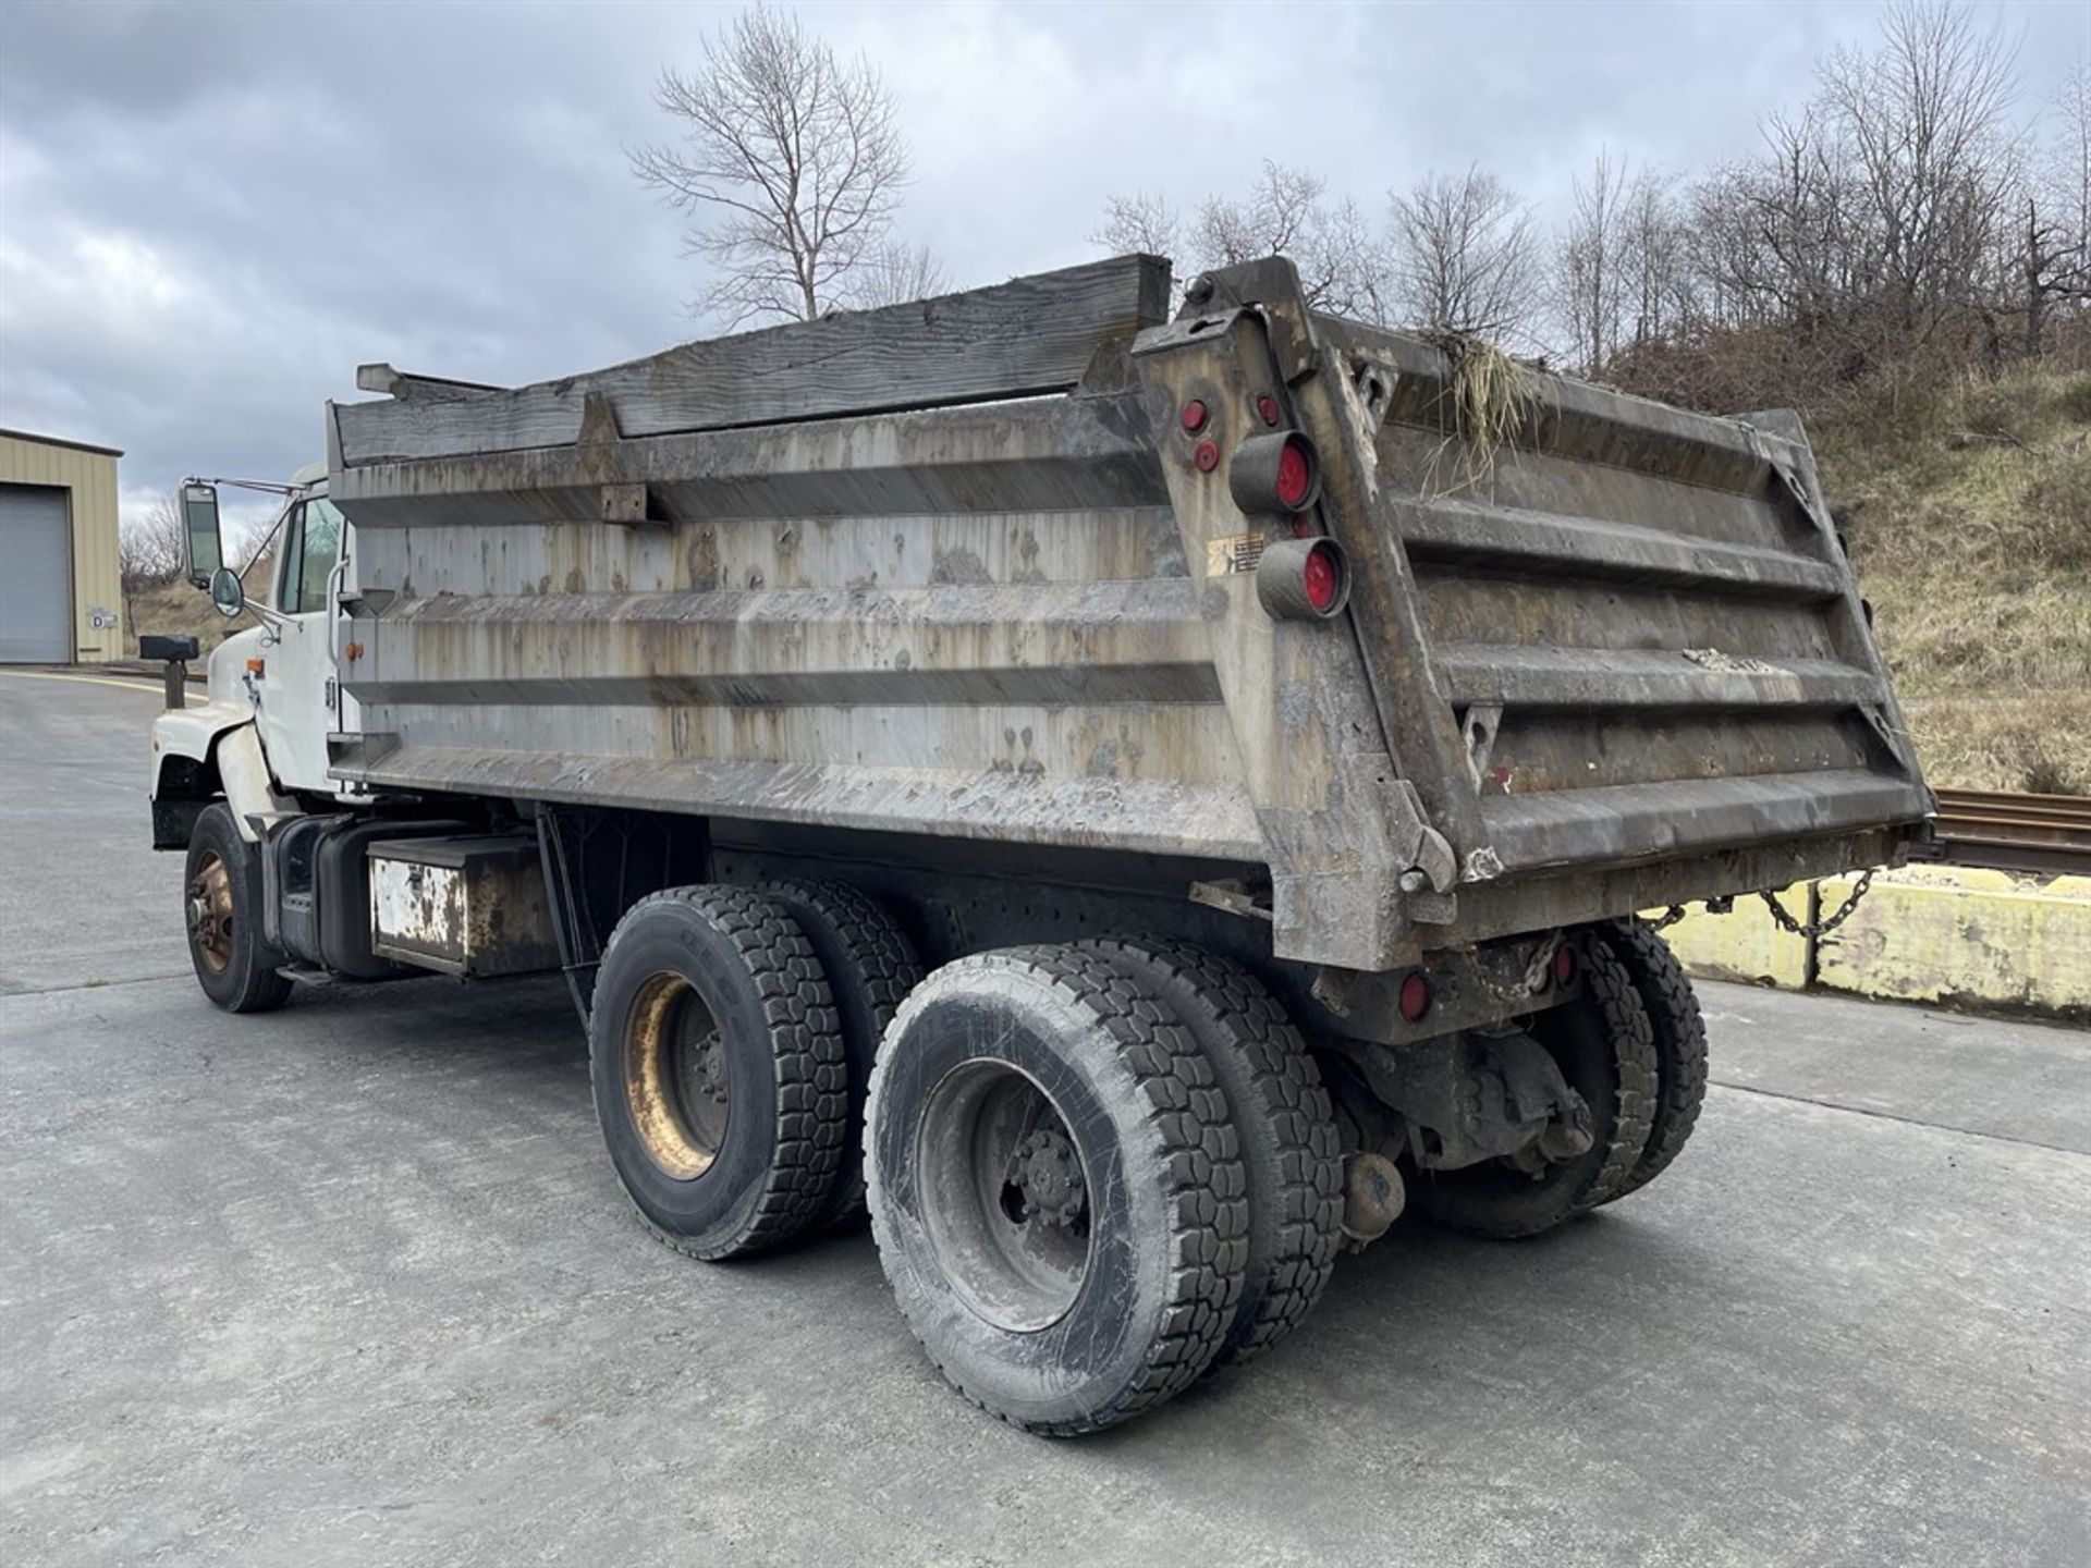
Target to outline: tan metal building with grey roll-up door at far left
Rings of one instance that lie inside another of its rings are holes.
[[[121,659],[113,447],[0,431],[0,665]]]

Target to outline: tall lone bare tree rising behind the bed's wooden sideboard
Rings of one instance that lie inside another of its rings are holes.
[[[634,151],[631,169],[700,220],[688,249],[717,268],[707,303],[734,326],[843,305],[907,180],[870,63],[757,6],[705,44],[698,71],[663,71],[654,100],[682,140]]]

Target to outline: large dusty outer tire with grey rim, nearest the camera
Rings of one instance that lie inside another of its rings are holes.
[[[1098,953],[976,953],[918,985],[872,1073],[866,1167],[901,1315],[1012,1426],[1117,1426],[1225,1340],[1248,1238],[1225,1098]]]

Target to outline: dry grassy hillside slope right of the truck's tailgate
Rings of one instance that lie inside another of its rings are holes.
[[[1932,784],[2091,794],[2091,374],[1811,416]]]

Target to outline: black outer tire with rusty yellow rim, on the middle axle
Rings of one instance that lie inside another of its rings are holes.
[[[611,1165],[663,1242],[732,1259],[822,1215],[849,1125],[843,1037],[780,903],[686,886],[631,905],[596,972],[588,1058]]]

